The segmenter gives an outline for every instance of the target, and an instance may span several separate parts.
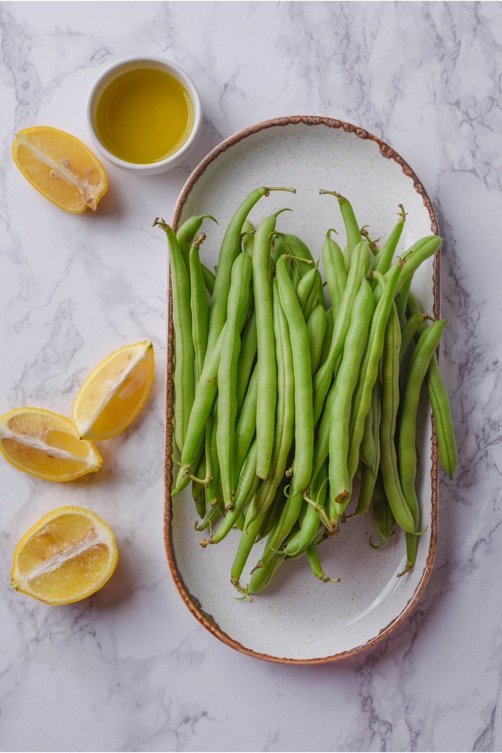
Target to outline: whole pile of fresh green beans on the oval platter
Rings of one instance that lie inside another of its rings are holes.
[[[211,215],[190,217],[177,233],[154,223],[166,231],[172,281],[179,466],[172,496],[191,480],[202,517],[195,527],[208,532],[202,547],[240,532],[230,580],[249,601],[283,562],[301,556],[316,578],[338,581],[324,574],[318,544],[364,513],[376,531],[373,548],[395,526],[404,530],[399,577],[412,569],[423,533],[415,489],[422,384],[450,477],[458,462],[436,355],[446,320],[422,312],[411,289],[443,239],[427,236],[396,255],[406,221],[401,204],[379,248],[348,200],[321,190],[338,200],[347,239],[342,250],[336,231],[325,233],[323,282],[306,244],[276,230],[285,209],[256,229],[248,219],[270,191],[294,189],[260,187],[245,197],[215,275],[200,261],[205,234],[197,235],[205,219],[215,221]],[[345,515],[351,500],[354,512]],[[253,547],[265,538],[242,584]]]

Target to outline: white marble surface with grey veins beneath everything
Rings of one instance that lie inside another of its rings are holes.
[[[154,340],[148,405],[65,485],[0,464],[0,748],[13,751],[500,751],[502,7],[495,2],[4,2],[0,4],[0,412],[68,415],[111,350]],[[110,62],[160,53],[199,88],[202,138],[184,165],[108,167],[96,215],[66,215],[24,181],[14,133],[89,142],[85,99]],[[326,114],[389,142],[427,187],[443,245],[442,370],[460,465],[440,482],[431,581],[373,650],[278,666],[207,633],[172,584],[162,539],[166,252],[187,175],[222,138],[282,114]],[[17,540],[60,505],[114,529],[117,572],[51,608],[11,592]]]

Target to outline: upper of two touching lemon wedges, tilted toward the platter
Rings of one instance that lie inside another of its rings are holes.
[[[144,406],[153,379],[151,340],[108,355],[87,377],[71,408],[78,436],[109,439],[120,434]]]

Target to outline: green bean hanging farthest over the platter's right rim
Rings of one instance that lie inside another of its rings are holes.
[[[418,303],[418,300],[416,300],[412,291],[410,291],[408,297],[408,309],[412,316],[421,313],[420,304]],[[418,328],[418,334],[421,334],[425,327],[427,327],[425,323],[420,325]],[[431,401],[432,412],[434,413],[437,449],[439,451],[441,465],[443,465],[446,473],[452,479],[458,465],[458,452],[455,444],[452,411],[443,384],[443,378],[441,377],[440,365],[437,361],[436,353],[434,353],[431,358],[431,362],[427,369],[427,377],[425,377],[425,383],[427,384],[427,392],[429,393],[429,400]]]

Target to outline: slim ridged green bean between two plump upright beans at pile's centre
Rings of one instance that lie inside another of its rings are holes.
[[[288,274],[286,272],[286,274]],[[275,497],[284,477],[294,425],[294,362],[288,320],[278,296],[278,282],[272,283],[273,324],[277,354],[277,413],[269,476],[263,481],[254,500],[254,516],[263,514]]]

